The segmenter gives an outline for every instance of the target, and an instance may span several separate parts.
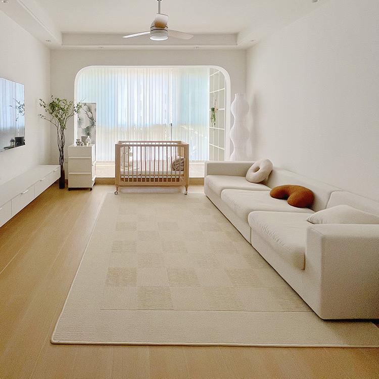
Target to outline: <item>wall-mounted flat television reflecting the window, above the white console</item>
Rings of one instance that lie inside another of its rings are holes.
[[[25,145],[24,84],[0,78],[0,151]]]

